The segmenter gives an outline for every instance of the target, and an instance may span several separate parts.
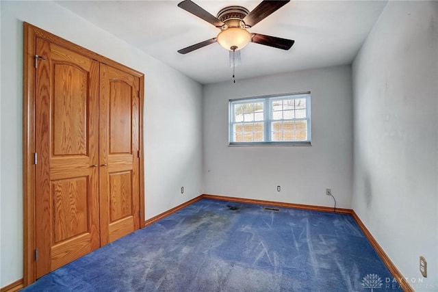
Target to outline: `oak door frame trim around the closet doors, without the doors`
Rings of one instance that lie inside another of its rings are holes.
[[[36,281],[35,265],[35,62],[36,38],[65,47],[75,53],[107,64],[140,78],[140,228],[144,227],[144,148],[143,107],[144,74],[123,64],[103,57],[73,42],[44,31],[29,23],[23,23],[23,284]],[[44,62],[44,61],[40,61]]]

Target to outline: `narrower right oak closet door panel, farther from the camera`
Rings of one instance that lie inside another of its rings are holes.
[[[101,64],[101,245],[140,228],[140,79]]]

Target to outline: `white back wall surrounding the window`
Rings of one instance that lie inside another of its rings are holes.
[[[227,146],[229,98],[305,91],[312,146]],[[203,98],[206,194],[333,207],[331,188],[338,207],[351,207],[350,66],[205,85]]]

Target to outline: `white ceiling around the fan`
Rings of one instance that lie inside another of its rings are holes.
[[[260,0],[261,1],[261,0]],[[216,16],[229,5],[253,10],[260,1],[194,2]],[[177,7],[179,1],[57,1],[68,10],[138,47],[202,84],[231,81],[229,52],[210,44],[186,55],[177,50],[214,38],[219,29]],[[289,38],[289,51],[248,44],[236,79],[350,64],[387,1],[291,1],[250,32]]]

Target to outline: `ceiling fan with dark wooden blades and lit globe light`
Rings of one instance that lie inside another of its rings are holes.
[[[229,6],[220,10],[216,17],[209,14],[209,12],[205,11],[190,0],[182,1],[178,4],[179,8],[202,18],[204,21],[207,21],[207,23],[211,23],[211,25],[218,27],[221,31],[216,38],[193,44],[190,47],[179,50],[178,53],[190,53],[209,44],[213,44],[214,42],[218,42],[224,49],[227,49],[230,52],[243,49],[249,42],[264,44],[277,49],[289,50],[292,47],[292,44],[294,44],[294,40],[250,33],[246,30],[253,27],[276,10],[279,10],[289,1],[290,0],[263,0],[251,12],[242,6]]]

